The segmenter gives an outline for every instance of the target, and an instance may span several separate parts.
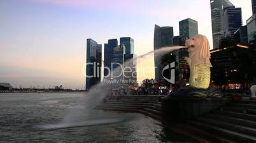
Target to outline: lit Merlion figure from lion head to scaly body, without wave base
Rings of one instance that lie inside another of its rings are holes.
[[[195,35],[186,40],[188,57],[185,60],[190,68],[189,84],[196,89],[208,89],[211,78],[210,44],[206,36]]]

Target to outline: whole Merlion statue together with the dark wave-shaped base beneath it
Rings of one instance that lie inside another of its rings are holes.
[[[188,57],[185,60],[190,68],[190,87],[181,87],[173,93],[179,97],[223,97],[221,90],[209,88],[212,67],[210,45],[204,35],[195,35],[186,40]]]

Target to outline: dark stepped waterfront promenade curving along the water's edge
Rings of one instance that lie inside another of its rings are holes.
[[[204,98],[193,99],[194,104],[188,99],[190,104],[166,105],[173,100],[180,102],[164,96],[120,96],[103,101],[97,109],[141,113],[199,142],[256,142],[256,101],[225,97],[222,104],[216,104],[220,99]]]

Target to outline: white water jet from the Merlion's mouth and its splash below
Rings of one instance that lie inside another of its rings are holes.
[[[155,51],[150,51],[149,53],[138,56],[136,59],[131,59],[125,61],[125,66],[131,66],[133,61],[143,61],[148,58],[148,56],[162,56],[168,52],[174,51],[176,49],[183,48],[182,46],[173,46],[173,47],[162,47]],[[120,73],[121,68],[116,68],[113,73]],[[121,85],[120,85],[121,86]],[[58,128],[71,128],[71,127],[84,127],[91,125],[103,125],[109,123],[118,123],[121,121],[131,120],[134,118],[131,114],[121,114],[117,115],[111,114],[111,112],[104,112],[101,110],[94,109],[97,104],[101,102],[103,97],[111,93],[113,85],[99,83],[91,87],[91,90],[82,97],[80,105],[84,106],[84,109],[72,109],[64,117],[62,121],[57,124],[51,125],[40,125],[39,127],[46,130],[58,129]]]

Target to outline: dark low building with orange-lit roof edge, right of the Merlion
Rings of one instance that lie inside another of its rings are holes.
[[[210,53],[213,84],[246,87],[256,81],[256,52],[248,46],[238,44],[224,49],[213,49]]]

